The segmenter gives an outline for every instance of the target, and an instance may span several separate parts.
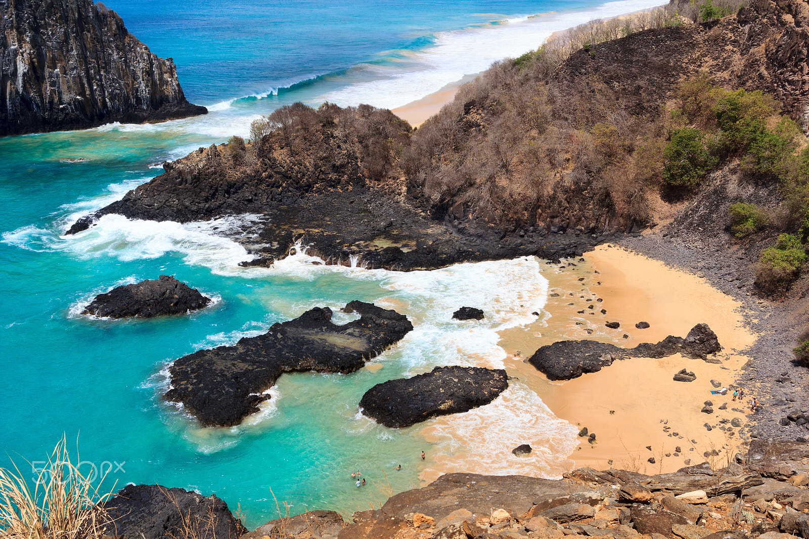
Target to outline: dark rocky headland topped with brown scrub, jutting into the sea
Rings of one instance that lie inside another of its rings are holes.
[[[504,236],[483,221],[439,222],[401,196],[391,144],[406,146],[411,131],[392,112],[301,105],[290,116],[287,132],[268,134],[257,145],[210,146],[165,163],[163,174],[78,219],[67,233],[85,231],[106,214],[187,223],[252,213],[265,219],[234,238],[258,257],[246,265],[269,265],[300,241],[327,264],[354,259],[401,270],[520,255],[581,256],[608,237],[570,231],[523,238]]]

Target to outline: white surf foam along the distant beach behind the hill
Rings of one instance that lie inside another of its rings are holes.
[[[435,45],[408,53],[396,66],[359,66],[372,80],[321,95],[342,106],[360,103],[396,108],[441,90],[464,75],[477,74],[505,57],[537,49],[553,32],[592,19],[625,15],[663,5],[660,0],[621,0],[583,11],[552,12],[536,17],[506,19],[478,28],[436,34]]]

